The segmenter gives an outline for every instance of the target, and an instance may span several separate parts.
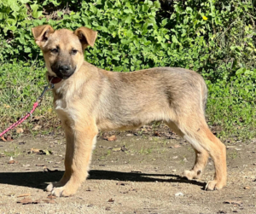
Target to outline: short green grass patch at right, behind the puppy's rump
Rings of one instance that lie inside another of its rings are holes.
[[[251,138],[256,135],[256,69],[238,72],[229,81],[207,81],[207,117],[221,136]]]

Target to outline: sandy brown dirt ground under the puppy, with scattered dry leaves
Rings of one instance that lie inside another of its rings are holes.
[[[179,176],[193,166],[195,153],[178,137],[98,139],[90,177],[79,192],[49,199],[44,188],[64,171],[64,137],[20,136],[0,142],[0,214],[256,213],[256,139],[226,145],[228,185],[209,192],[204,188],[214,173],[211,160],[201,180]]]

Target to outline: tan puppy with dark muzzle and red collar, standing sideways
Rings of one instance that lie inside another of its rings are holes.
[[[84,61],[97,32],[81,26],[72,32],[52,26],[32,28],[44,54],[47,79],[55,84],[54,107],[66,136],[65,173],[46,190],[55,196],[77,192],[88,176],[98,130],[131,130],[163,120],[195,149],[195,165],[183,176],[199,178],[209,155],[215,176],[207,190],[226,185],[226,149],[205,119],[207,85],[200,74],[176,67],[109,72]]]

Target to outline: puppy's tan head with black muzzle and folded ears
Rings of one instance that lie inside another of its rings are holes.
[[[42,49],[50,76],[67,79],[79,70],[84,61],[84,49],[93,46],[97,32],[81,26],[75,32],[54,30],[51,26],[32,28],[36,43]]]

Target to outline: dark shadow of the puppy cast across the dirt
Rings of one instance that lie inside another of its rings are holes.
[[[47,186],[47,182],[59,181],[63,173],[64,171],[0,172],[0,183],[44,189]],[[178,182],[194,184],[200,186],[202,189],[206,187],[205,182],[197,182],[194,180],[189,181],[182,176],[172,174],[92,170],[90,171],[88,179],[113,180],[121,182]]]

